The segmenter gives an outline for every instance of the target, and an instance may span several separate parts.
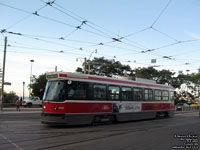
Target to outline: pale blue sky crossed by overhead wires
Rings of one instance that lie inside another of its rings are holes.
[[[25,82],[29,95],[31,64],[36,76],[55,66],[75,72],[84,57],[197,73],[199,14],[199,0],[0,0],[0,67],[7,37],[11,82],[5,91],[22,96]]]

